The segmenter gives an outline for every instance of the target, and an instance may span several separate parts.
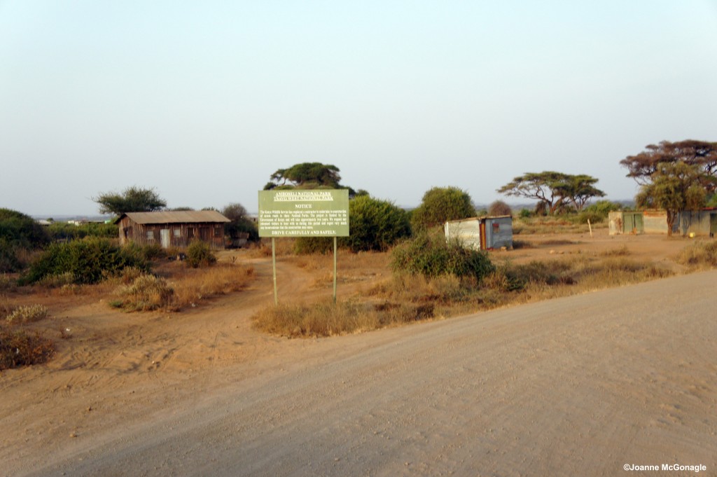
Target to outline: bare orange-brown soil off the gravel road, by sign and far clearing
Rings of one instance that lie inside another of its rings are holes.
[[[680,237],[609,237],[607,230],[597,230],[594,237],[518,235],[516,240],[524,246],[492,252],[495,260],[520,263],[571,254],[602,256],[627,247],[632,259],[652,260],[679,271],[682,267],[673,258],[690,243]],[[101,288],[89,297],[6,293],[12,304],[42,303],[49,308],[51,317],[35,326],[56,339],[57,345],[48,364],[0,375],[0,461],[6,468],[19,470],[39,455],[71,453],[87,445],[87,439],[108,435],[103,429],[139,426],[196,405],[227,379],[256,379],[299,363],[310,366],[307,360],[315,357],[305,351],[316,340],[267,336],[252,329],[250,317],[273,301],[270,258],[249,258],[239,251],[225,252],[222,259],[230,255],[255,267],[256,280],[250,288],[179,313],[124,313],[108,306],[110,291]],[[388,276],[385,262],[383,267],[351,270],[341,277],[340,298]],[[323,286],[331,270],[313,270],[293,258],[280,258],[277,269],[280,301],[331,297],[331,285]],[[320,341],[331,348],[326,344],[331,339]],[[338,352],[342,345],[336,343]]]

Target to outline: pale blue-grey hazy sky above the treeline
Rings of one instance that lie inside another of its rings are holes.
[[[403,206],[545,170],[630,199],[625,156],[717,141],[716,60],[717,0],[0,0],[0,207],[256,211],[304,161]]]

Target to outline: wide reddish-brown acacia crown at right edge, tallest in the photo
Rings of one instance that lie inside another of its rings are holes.
[[[659,144],[648,144],[645,151],[635,156],[627,156],[620,161],[620,165],[627,168],[627,177],[632,177],[637,184],[645,185],[652,182],[659,164],[683,162],[690,166],[699,166],[703,171],[702,179],[717,174],[717,142],[695,141],[688,139],[670,143],[662,141]],[[714,192],[714,185],[706,181],[711,187],[708,192]]]

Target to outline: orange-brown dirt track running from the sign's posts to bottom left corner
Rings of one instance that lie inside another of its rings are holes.
[[[239,369],[232,379],[280,367],[257,360],[280,358],[302,343],[287,345],[252,330],[250,317],[274,297],[270,260],[249,264],[257,273],[251,288],[196,310],[123,313],[103,301],[63,303],[52,320],[69,338],[57,341],[55,359],[0,375],[0,462],[16,469],[94,442],[103,430],[191,407],[207,387],[223,382],[227,367]],[[313,293],[308,273],[281,262],[278,267],[280,298]]]

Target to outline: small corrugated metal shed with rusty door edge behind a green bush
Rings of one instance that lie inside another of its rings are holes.
[[[474,250],[513,248],[513,217],[472,217],[445,223],[446,240],[458,240]]]

